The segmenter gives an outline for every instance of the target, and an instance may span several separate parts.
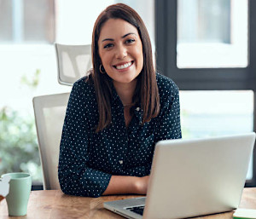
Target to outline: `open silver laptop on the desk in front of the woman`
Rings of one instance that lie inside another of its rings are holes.
[[[234,210],[240,204],[254,141],[255,133],[159,141],[147,198],[105,202],[104,207],[127,218],[147,219]]]

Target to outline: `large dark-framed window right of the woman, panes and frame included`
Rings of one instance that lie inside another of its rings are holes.
[[[184,137],[255,131],[253,9],[252,0],[155,1],[157,69],[181,90]],[[247,186],[256,186],[255,156]]]

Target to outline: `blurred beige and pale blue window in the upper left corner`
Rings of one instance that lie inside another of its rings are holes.
[[[0,43],[53,43],[54,1],[0,0]]]

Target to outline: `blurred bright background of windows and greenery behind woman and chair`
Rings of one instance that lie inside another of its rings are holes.
[[[90,44],[97,15],[112,3],[142,16],[156,69],[180,88],[183,138],[253,131],[253,87],[244,83],[255,53],[251,2],[0,0],[0,176],[28,171],[42,185],[32,97],[71,90],[58,84],[54,43]]]

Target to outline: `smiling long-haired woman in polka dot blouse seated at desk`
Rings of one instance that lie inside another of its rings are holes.
[[[154,145],[181,138],[176,84],[156,73],[143,20],[118,3],[96,20],[93,69],[67,105],[59,182],[64,193],[147,193]]]

